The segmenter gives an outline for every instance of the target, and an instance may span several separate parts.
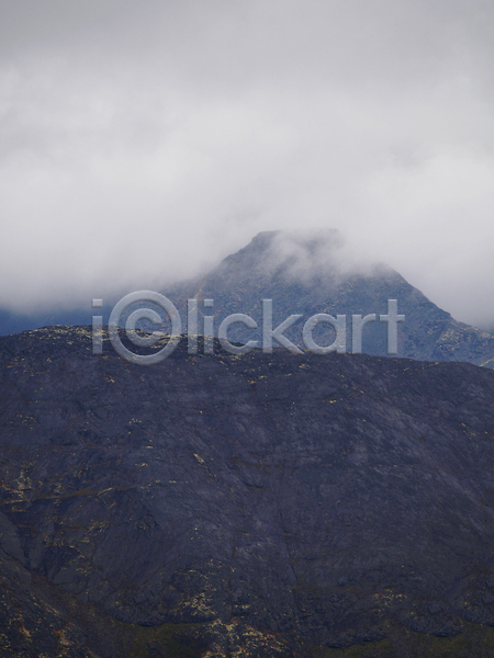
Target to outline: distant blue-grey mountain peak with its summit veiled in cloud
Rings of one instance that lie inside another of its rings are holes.
[[[303,345],[303,322],[314,314],[346,315],[347,352],[352,349],[351,316],[377,314],[378,320],[362,328],[362,351],[374,355],[388,354],[386,324],[379,322],[379,315],[386,314],[388,299],[397,299],[397,310],[405,315],[405,321],[397,326],[398,356],[494,367],[494,336],[458,322],[388,265],[363,269],[355,263],[341,273],[346,263],[340,249],[337,231],[312,240],[282,231],[262,232],[205,276],[165,294],[183,316],[188,298],[212,298],[213,309],[203,313],[214,313],[216,329],[224,317],[234,313],[250,315],[261,327],[261,300],[271,298],[273,327],[292,314],[303,315],[285,332],[299,345]],[[203,309],[202,304],[199,308]],[[256,330],[232,328],[231,334],[242,341],[260,339]],[[333,339],[332,333],[322,331],[318,340],[323,345]]]

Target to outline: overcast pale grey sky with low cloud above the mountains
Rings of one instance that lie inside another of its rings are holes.
[[[0,0],[0,307],[336,228],[494,327],[493,27],[492,0]]]

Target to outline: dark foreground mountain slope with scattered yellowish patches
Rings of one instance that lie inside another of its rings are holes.
[[[0,412],[3,658],[492,656],[489,368],[54,327]]]

